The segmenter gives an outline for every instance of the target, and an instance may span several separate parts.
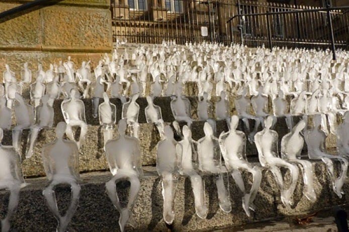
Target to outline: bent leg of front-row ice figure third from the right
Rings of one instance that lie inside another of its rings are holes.
[[[295,163],[299,163],[302,165],[302,173],[303,173],[303,181],[304,181],[304,196],[310,200],[311,202],[316,201],[316,194],[314,191],[314,174],[313,174],[313,166],[311,162],[307,160],[294,160]]]

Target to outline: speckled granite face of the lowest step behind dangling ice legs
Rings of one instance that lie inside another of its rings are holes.
[[[250,218],[245,215],[242,209],[242,193],[232,178],[229,178],[229,189],[233,210],[231,213],[224,213],[218,206],[217,189],[213,178],[205,176],[206,202],[209,214],[206,219],[200,219],[195,214],[190,180],[180,177],[175,199],[176,216],[171,228],[173,231],[214,230],[285,216],[304,215],[347,203],[348,183],[343,186],[343,191],[346,194],[339,199],[330,187],[325,165],[322,162],[313,162],[313,171],[317,201],[311,203],[303,196],[303,180],[300,175],[294,193],[294,206],[292,209],[287,209],[281,203],[280,192],[273,175],[264,169],[263,180],[254,201],[256,212],[252,213]],[[286,175],[286,179],[288,179],[289,173]],[[91,172],[81,174],[81,177],[79,206],[68,230],[119,231],[119,213],[113,207],[105,191],[105,182],[111,178],[111,174],[109,172]],[[246,189],[249,189],[252,177],[246,173],[243,173],[243,177],[248,183]],[[12,220],[13,230],[23,232],[55,230],[57,222],[52,213],[49,212],[42,196],[42,190],[48,182],[45,178],[27,179],[26,181],[31,185],[21,190],[19,207]],[[120,199],[125,199],[128,186],[128,182],[117,184],[117,189],[120,190]],[[70,201],[70,188],[66,185],[59,185],[55,192],[58,207],[63,211]],[[7,191],[0,191],[2,218],[4,211],[6,211],[5,208],[7,208],[8,197]],[[133,209],[135,228],[128,227],[127,231],[166,231],[167,228],[162,219],[162,203],[160,179],[154,168],[145,167],[139,197]]]

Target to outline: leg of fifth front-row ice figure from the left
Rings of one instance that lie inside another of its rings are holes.
[[[208,208],[206,207],[206,204],[205,204],[204,181],[202,180],[201,176],[199,176],[194,171],[191,171],[188,174],[190,176],[190,181],[192,182],[196,214],[200,218],[205,219],[207,216]]]

